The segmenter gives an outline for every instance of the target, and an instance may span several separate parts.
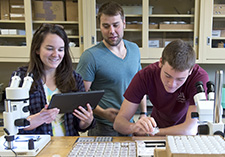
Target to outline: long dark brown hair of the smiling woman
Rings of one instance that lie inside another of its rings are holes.
[[[33,73],[34,80],[40,80],[44,78],[43,81],[45,82],[44,64],[36,52],[40,50],[41,44],[43,43],[46,35],[49,33],[58,35],[65,43],[65,55],[62,62],[56,68],[55,84],[62,93],[77,91],[76,81],[73,76],[72,59],[69,50],[69,39],[63,27],[60,25],[44,23],[36,30],[31,43],[28,72]]]

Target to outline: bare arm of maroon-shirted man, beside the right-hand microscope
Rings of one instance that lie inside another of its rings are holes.
[[[197,107],[195,105],[189,106],[186,120],[184,121],[184,123],[159,129],[159,133],[157,135],[196,135],[198,128],[198,120],[191,118],[191,112],[196,111]]]

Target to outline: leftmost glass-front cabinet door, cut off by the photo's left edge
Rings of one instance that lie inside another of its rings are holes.
[[[11,1],[9,7],[8,1],[1,2],[1,20],[0,20],[0,60],[20,61],[27,55],[26,22],[24,17],[23,0]]]

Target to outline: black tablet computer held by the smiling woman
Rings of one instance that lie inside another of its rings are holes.
[[[89,103],[95,109],[103,94],[104,90],[54,94],[48,108],[58,108],[60,113],[70,113],[78,109],[78,106],[87,109]]]

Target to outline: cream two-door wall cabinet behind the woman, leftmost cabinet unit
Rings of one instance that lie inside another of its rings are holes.
[[[20,0],[21,1],[21,0]],[[10,0],[8,0],[8,6],[11,9],[12,4],[10,4]],[[18,5],[16,1],[14,1]],[[83,52],[83,45],[82,45],[82,38],[83,38],[83,29],[82,29],[82,0],[77,0],[75,2],[76,8],[72,10],[73,12],[77,12],[77,18],[75,20],[68,20],[67,10],[58,10],[63,15],[63,20],[49,20],[47,18],[43,18],[43,20],[35,19],[35,7],[34,5],[38,5],[40,8],[37,8],[37,11],[43,10],[43,15],[51,14],[53,9],[57,9],[58,6],[54,7],[56,1],[49,1],[50,4],[45,4],[47,1],[34,1],[34,0],[22,0],[22,3],[19,4],[24,6],[24,15],[23,19],[16,19],[16,18],[9,18],[7,20],[1,19],[0,20],[0,28],[1,28],[1,35],[0,35],[0,61],[2,62],[27,62],[29,60],[29,51],[32,41],[32,36],[35,30],[42,24],[42,23],[53,23],[62,25],[67,32],[68,38],[70,40],[70,49],[73,56],[73,61],[77,62],[81,53]],[[40,3],[39,3],[40,2]],[[60,6],[64,9],[64,6],[67,3],[73,3],[72,0],[61,1],[63,6]],[[44,8],[45,6],[45,8]],[[48,8],[49,7],[49,8]],[[44,8],[44,9],[43,9]],[[68,7],[67,7],[68,8]],[[51,10],[52,9],[52,10]],[[66,9],[66,7],[65,7]],[[55,11],[55,10],[54,10]],[[71,13],[71,12],[69,12]],[[68,14],[69,14],[68,13]],[[41,13],[40,13],[41,14]],[[55,14],[54,14],[55,16]],[[65,18],[64,18],[65,17]],[[13,20],[12,20],[13,19]],[[5,30],[5,32],[4,32]],[[13,34],[9,33],[9,31]]]

